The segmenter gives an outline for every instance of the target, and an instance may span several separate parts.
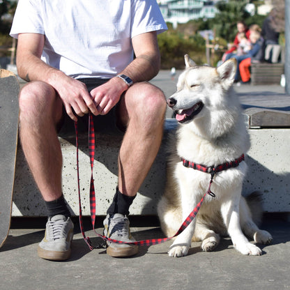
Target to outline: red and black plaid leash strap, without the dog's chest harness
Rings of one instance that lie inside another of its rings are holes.
[[[82,203],[81,203],[81,194],[80,194],[80,187],[79,187],[79,137],[78,137],[78,130],[77,130],[77,122],[75,122],[75,139],[76,139],[76,147],[77,147],[77,186],[78,186],[78,192],[79,192],[79,227],[82,231],[82,236],[84,238],[84,241],[89,246],[90,250],[93,250],[94,248],[98,248],[99,246],[93,246],[89,237],[86,237],[84,233],[84,226],[82,222]],[[91,206],[91,224],[93,227],[93,231],[97,236],[102,238],[104,241],[110,242],[110,243],[118,243],[118,244],[129,244],[129,245],[157,245],[160,243],[165,243],[166,241],[169,241],[171,238],[174,238],[175,236],[178,236],[181,234],[186,227],[192,222],[194,217],[197,215],[199,208],[201,207],[201,204],[204,201],[204,198],[206,197],[206,192],[204,196],[201,198],[201,201],[197,204],[197,206],[193,209],[193,211],[188,215],[188,217],[185,219],[183,224],[181,224],[181,227],[178,229],[176,234],[174,236],[171,236],[170,238],[152,238],[142,241],[136,241],[136,242],[123,242],[114,240],[112,238],[107,238],[106,236],[103,236],[101,234],[98,234],[95,230],[95,220],[96,220],[96,194],[95,194],[95,188],[93,185],[93,160],[95,157],[95,131],[93,126],[93,116],[89,114],[89,155],[90,155],[90,162],[91,162],[91,185],[90,185],[90,206]]]

